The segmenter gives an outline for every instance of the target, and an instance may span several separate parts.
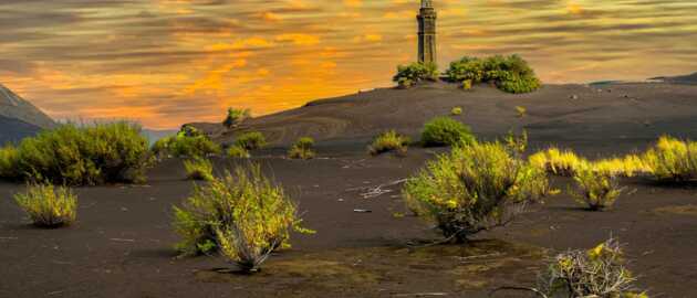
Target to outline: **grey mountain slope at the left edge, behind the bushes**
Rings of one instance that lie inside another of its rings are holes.
[[[34,105],[0,85],[0,145],[19,141],[55,125]]]

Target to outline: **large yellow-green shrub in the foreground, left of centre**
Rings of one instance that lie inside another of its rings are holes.
[[[300,227],[295,205],[261,174],[259,166],[196,185],[181,207],[174,207],[177,248],[187,255],[220,252],[240,269],[252,272],[277,248],[289,246]]]

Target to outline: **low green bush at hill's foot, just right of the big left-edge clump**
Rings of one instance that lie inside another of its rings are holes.
[[[159,139],[153,145],[153,152],[158,157],[207,157],[220,153],[220,146],[191,126],[184,126],[177,135]]]

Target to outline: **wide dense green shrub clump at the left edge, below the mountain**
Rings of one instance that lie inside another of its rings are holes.
[[[141,182],[150,163],[147,146],[135,124],[66,124],[0,150],[0,175],[71,185]]]

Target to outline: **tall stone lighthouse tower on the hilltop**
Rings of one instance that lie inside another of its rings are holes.
[[[436,9],[431,0],[422,0],[418,20],[418,61],[436,63]]]

